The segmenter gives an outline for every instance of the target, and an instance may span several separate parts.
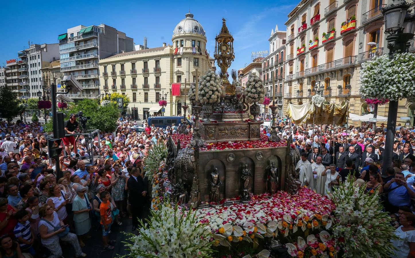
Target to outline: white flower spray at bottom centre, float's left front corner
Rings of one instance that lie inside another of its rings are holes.
[[[130,253],[123,257],[212,257],[212,234],[195,215],[192,209],[181,212],[177,204],[162,202],[160,209],[151,211],[151,219],[139,221],[138,236],[128,234]]]

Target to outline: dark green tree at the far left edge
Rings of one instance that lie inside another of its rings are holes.
[[[10,87],[0,88],[0,113],[1,117],[11,122],[13,118],[24,112],[24,105]]]

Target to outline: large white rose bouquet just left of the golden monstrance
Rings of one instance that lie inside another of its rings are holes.
[[[202,104],[215,104],[220,101],[221,94],[219,75],[212,70],[207,71],[199,80],[198,100]]]

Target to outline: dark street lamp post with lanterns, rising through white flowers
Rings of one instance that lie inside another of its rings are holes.
[[[410,5],[406,1],[394,1],[387,7],[382,8],[390,59],[393,59],[395,53],[408,52],[408,41],[414,37],[415,15],[408,13],[409,7]],[[385,151],[383,151],[383,175],[386,174],[386,169],[392,165],[397,114],[398,100],[390,100],[388,124],[386,127]]]

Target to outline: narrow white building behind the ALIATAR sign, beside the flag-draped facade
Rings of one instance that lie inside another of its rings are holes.
[[[286,49],[286,31],[271,30],[269,37],[269,55],[262,59],[262,79],[264,81],[265,92],[272,99],[275,95],[278,114],[283,115],[283,92],[284,92],[284,60]],[[274,78],[275,92],[272,92],[272,78]],[[267,110],[266,112],[271,112]]]

